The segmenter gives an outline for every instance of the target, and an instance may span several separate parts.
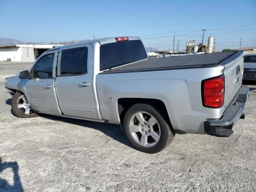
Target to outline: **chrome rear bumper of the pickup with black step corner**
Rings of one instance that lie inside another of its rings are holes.
[[[246,100],[249,97],[249,87],[242,85],[231,104],[219,120],[208,120],[204,122],[206,134],[217,137],[229,137],[232,135],[232,128],[240,120],[244,119],[243,113]]]

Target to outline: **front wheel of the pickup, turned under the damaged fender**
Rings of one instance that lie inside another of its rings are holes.
[[[18,91],[12,96],[12,111],[19,118],[38,117],[38,114],[31,108],[25,95]]]

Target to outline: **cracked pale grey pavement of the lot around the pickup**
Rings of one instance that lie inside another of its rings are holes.
[[[158,154],[132,148],[118,125],[17,118],[5,78],[32,63],[0,62],[0,191],[256,191],[256,82],[229,138],[176,134]]]

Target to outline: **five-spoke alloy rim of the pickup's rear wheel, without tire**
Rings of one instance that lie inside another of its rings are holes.
[[[129,130],[134,141],[144,147],[156,145],[161,135],[156,118],[144,111],[137,112],[130,118]]]

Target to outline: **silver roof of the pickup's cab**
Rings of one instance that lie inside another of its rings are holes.
[[[119,36],[119,37],[122,37],[122,36]],[[129,40],[140,40],[140,38],[136,37],[136,36],[126,36],[126,37],[128,37]],[[80,42],[80,43],[74,43],[74,44],[69,44],[69,45],[52,48],[52,49],[47,50],[46,52],[52,51],[52,50],[58,50],[63,47],[83,45],[83,44],[94,43],[94,42],[99,42],[101,45],[108,44],[108,43],[114,43],[114,42],[116,42],[116,38],[117,37],[108,37],[108,38],[100,38],[100,39],[95,39],[95,40],[90,40],[90,41],[84,41],[84,42]]]

